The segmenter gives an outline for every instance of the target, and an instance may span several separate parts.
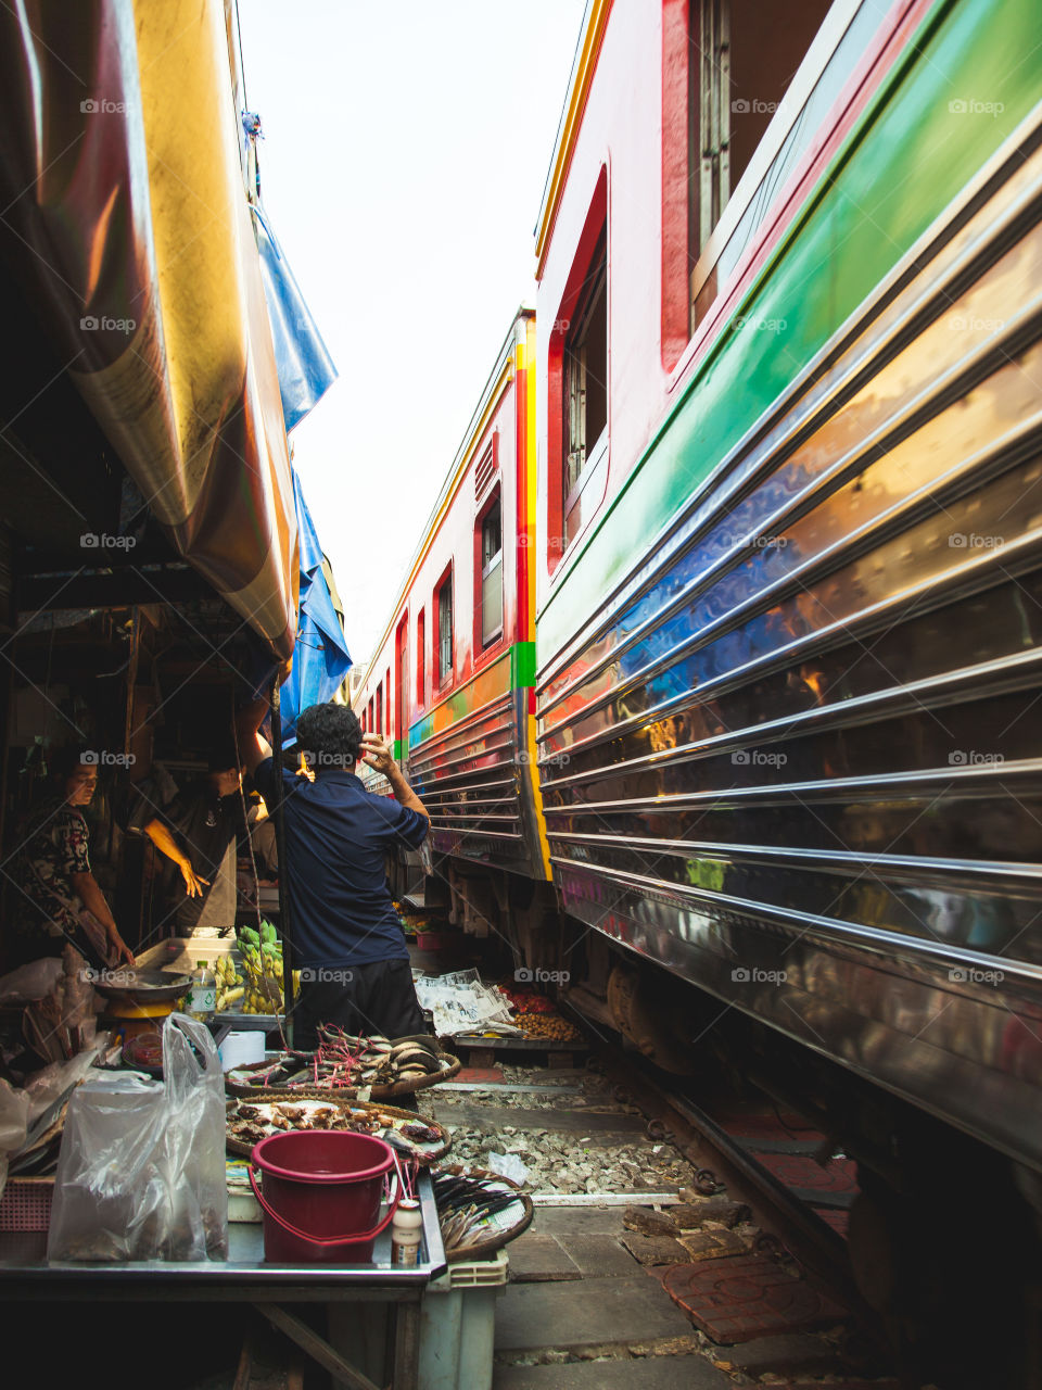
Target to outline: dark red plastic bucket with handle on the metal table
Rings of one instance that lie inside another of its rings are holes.
[[[399,1177],[395,1200],[378,1220],[383,1179],[397,1166],[389,1144],[350,1130],[286,1130],[263,1138],[253,1150],[253,1162],[264,1175],[261,1190],[250,1169],[253,1191],[264,1208],[267,1261],[372,1261],[372,1244],[402,1198]]]

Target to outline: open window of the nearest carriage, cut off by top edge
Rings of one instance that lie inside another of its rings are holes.
[[[717,293],[697,261],[832,0],[690,0],[688,259],[690,331]]]

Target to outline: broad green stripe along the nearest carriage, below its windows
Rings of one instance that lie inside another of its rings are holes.
[[[539,613],[540,664],[1031,111],[1041,46],[1038,0],[960,0],[923,24],[736,307],[782,327],[721,334]]]

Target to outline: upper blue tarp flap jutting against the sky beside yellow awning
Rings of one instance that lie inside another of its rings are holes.
[[[253,206],[253,214],[257,218],[264,297],[275,341],[282,414],[289,434],[336,381],[336,367],[293,279],[282,247],[257,204]]]

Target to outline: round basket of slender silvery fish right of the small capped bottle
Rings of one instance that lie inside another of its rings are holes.
[[[532,1220],[532,1198],[517,1183],[465,1163],[431,1169],[445,1258],[486,1259]]]

